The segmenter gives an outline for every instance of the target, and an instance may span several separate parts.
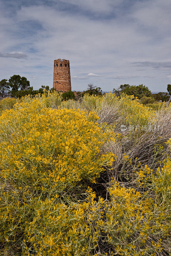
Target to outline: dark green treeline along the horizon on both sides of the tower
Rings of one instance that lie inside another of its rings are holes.
[[[26,95],[43,94],[47,91],[53,92],[54,88],[49,88],[49,86],[41,85],[41,88],[38,90],[33,90],[33,86],[30,86],[30,82],[24,76],[13,75],[9,80],[2,79],[0,81],[0,98],[11,97],[11,98],[21,98]],[[138,98],[143,104],[152,104],[154,102],[166,102],[169,101],[171,95],[171,84],[167,84],[167,92],[159,92],[154,93],[149,90],[149,88],[143,84],[139,85],[129,85],[129,84],[121,84],[117,89],[113,89],[113,92],[116,96],[120,96],[122,93],[127,95],[134,95],[134,97]],[[85,93],[89,95],[98,95],[102,96],[102,90],[100,87],[90,83],[87,85],[87,90],[84,92],[63,92],[63,99],[78,99],[83,97]]]

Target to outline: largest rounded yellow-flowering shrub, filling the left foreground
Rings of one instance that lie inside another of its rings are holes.
[[[95,182],[103,166],[112,164],[111,153],[100,154],[109,136],[97,126],[97,119],[92,112],[42,108],[37,100],[16,104],[2,114],[0,229],[4,253],[11,243],[10,253],[21,250],[40,209],[42,217],[50,214],[47,207],[50,212],[57,207],[59,218],[65,212],[64,204],[71,198],[73,202],[84,198],[86,182]]]

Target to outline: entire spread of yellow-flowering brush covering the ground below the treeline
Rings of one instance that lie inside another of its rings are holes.
[[[170,255],[170,116],[111,93],[3,112],[0,254]]]

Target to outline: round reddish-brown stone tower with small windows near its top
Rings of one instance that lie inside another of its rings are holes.
[[[71,75],[69,60],[54,60],[53,88],[56,91],[68,92],[71,90]]]

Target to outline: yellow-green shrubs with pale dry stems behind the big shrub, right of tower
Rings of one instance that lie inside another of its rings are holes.
[[[74,100],[63,101],[62,108],[80,108],[95,111],[100,116],[100,121],[108,124],[115,123],[129,125],[147,125],[154,121],[155,111],[140,104],[133,96],[126,94],[116,97],[109,92],[105,95],[96,96],[85,94],[81,104]]]

